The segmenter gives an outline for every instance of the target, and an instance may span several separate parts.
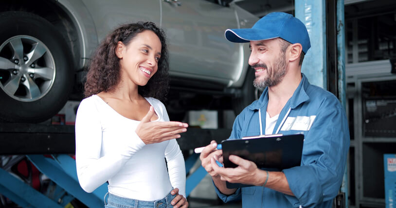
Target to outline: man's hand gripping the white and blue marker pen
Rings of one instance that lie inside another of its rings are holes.
[[[223,151],[216,150],[217,143],[216,141],[212,140],[211,143],[202,150],[201,154],[199,155],[199,159],[201,160],[202,167],[205,168],[206,172],[209,173],[212,177],[217,177],[217,173],[213,171],[211,159],[214,155],[218,158],[219,162],[223,162]],[[215,151],[216,150],[216,151]],[[217,166],[216,162],[215,165]]]

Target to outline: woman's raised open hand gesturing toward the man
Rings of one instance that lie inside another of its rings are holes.
[[[143,117],[135,132],[144,144],[160,143],[166,140],[180,138],[180,133],[187,131],[188,124],[177,121],[151,122],[154,109],[150,110]]]

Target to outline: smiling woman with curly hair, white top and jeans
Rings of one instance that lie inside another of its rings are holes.
[[[170,122],[160,101],[167,59],[164,32],[138,22],[109,33],[91,60],[75,125],[77,175],[86,192],[108,181],[107,208],[188,207],[175,139],[188,125]]]

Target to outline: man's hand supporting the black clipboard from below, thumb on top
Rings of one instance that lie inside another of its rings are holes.
[[[261,186],[265,181],[266,174],[257,168],[257,165],[249,160],[244,160],[238,156],[230,155],[229,160],[238,165],[236,168],[223,168],[216,164],[217,156],[211,158],[214,175],[218,174],[221,180],[230,183],[251,184]]]

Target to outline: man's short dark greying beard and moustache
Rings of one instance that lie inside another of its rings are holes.
[[[281,82],[283,80],[283,77],[285,77],[286,75],[285,57],[286,57],[285,52],[281,52],[272,68],[268,68],[266,64],[253,65],[252,68],[264,67],[265,70],[267,70],[267,77],[261,79],[259,78],[254,79],[253,81],[254,87],[264,89],[266,87],[271,87],[279,84],[279,82]]]

